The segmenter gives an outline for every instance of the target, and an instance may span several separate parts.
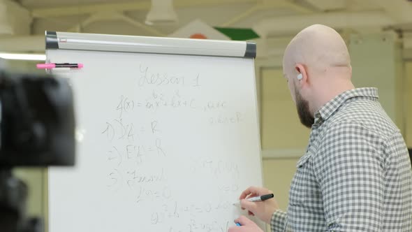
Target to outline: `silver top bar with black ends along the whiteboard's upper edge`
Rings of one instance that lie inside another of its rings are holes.
[[[217,41],[45,31],[45,44],[46,50],[96,50],[256,58],[256,43],[253,41]]]

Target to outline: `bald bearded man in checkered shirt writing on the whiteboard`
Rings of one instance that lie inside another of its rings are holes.
[[[297,162],[287,212],[249,187],[242,209],[272,231],[412,231],[411,160],[375,88],[355,89],[351,59],[337,31],[312,25],[286,48],[284,77],[300,122],[311,129]],[[262,231],[247,217],[229,232]]]

